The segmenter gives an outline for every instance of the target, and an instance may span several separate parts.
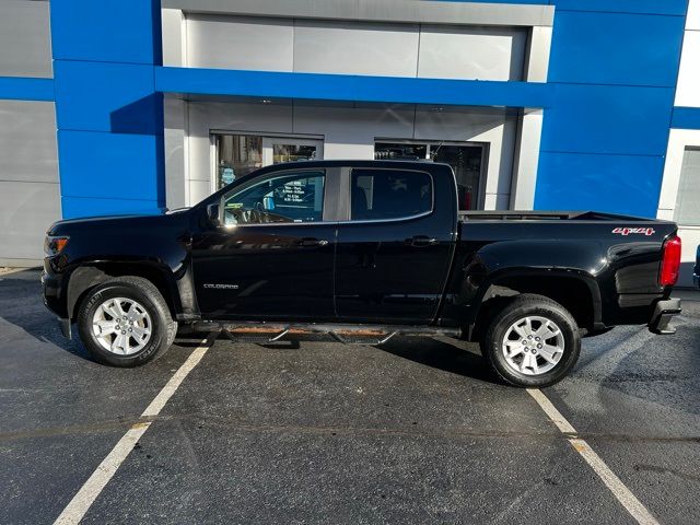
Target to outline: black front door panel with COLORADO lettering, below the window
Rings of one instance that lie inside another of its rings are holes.
[[[195,232],[191,255],[202,316],[332,319],[335,236],[335,224],[313,223]]]

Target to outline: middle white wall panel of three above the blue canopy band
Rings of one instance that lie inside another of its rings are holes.
[[[416,77],[418,25],[296,21],[294,71]]]

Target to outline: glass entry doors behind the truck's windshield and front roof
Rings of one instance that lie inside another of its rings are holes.
[[[324,141],[319,139],[212,133],[212,145],[217,162],[212,192],[262,166],[324,158]]]

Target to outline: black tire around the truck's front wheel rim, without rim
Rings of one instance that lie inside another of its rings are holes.
[[[138,302],[151,319],[151,336],[145,346],[138,352],[121,355],[103,348],[93,334],[92,319],[101,305],[114,298],[125,298]],[[78,332],[85,348],[93,358],[112,366],[139,366],[163,354],[175,340],[177,322],[171,317],[170,308],[161,292],[147,279],[141,277],[116,277],[96,285],[85,295],[75,318]]]

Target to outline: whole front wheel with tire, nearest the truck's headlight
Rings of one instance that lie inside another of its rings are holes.
[[[177,331],[158,288],[140,277],[95,287],[81,303],[77,323],[90,353],[113,366],[147,363],[170,348]]]

